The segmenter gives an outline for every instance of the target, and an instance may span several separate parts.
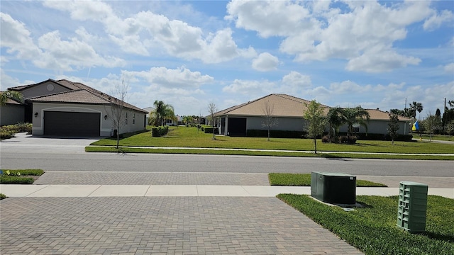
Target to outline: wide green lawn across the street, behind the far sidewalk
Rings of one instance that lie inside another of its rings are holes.
[[[317,149],[325,152],[383,152],[383,153],[453,153],[454,145],[440,145],[431,142],[394,142],[389,141],[358,141],[356,145],[339,145],[317,142]],[[116,140],[106,138],[92,145],[116,145]],[[143,147],[201,147],[201,148],[233,148],[233,149],[281,149],[281,150],[313,150],[310,139],[286,139],[256,137],[224,137],[217,136],[212,140],[211,134],[197,132],[196,128],[171,127],[168,135],[152,137],[151,132],[143,132],[120,140],[121,146]]]

